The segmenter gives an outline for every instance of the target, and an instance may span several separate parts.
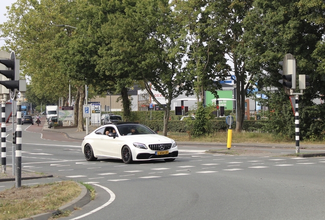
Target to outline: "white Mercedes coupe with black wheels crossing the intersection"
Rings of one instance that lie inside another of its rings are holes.
[[[115,130],[115,132],[113,132]],[[108,135],[106,135],[106,131]],[[86,135],[81,144],[86,160],[98,157],[132,161],[173,161],[178,157],[174,140],[162,136],[145,125],[132,122],[110,123]]]

